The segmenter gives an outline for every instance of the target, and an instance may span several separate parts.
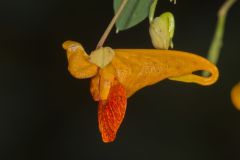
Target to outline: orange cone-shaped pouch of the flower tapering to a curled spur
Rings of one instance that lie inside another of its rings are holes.
[[[126,88],[127,97],[139,89],[163,79],[211,85],[218,79],[217,67],[195,54],[158,49],[115,49],[111,65],[116,77]],[[205,70],[210,77],[192,74]]]

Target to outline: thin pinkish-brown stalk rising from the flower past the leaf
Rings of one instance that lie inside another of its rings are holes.
[[[119,6],[116,14],[112,18],[111,22],[109,23],[108,27],[106,28],[105,32],[103,33],[101,39],[99,40],[96,49],[101,48],[106,41],[109,33],[111,32],[114,24],[116,23],[118,17],[120,16],[121,12],[123,11],[125,5],[127,4],[128,0],[122,0],[121,5]]]

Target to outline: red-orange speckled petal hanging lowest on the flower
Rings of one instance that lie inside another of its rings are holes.
[[[98,126],[105,143],[113,142],[125,116],[127,96],[125,88],[115,80],[108,99],[98,105]]]

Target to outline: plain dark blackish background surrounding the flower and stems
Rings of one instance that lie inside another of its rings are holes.
[[[206,56],[223,0],[160,0],[176,18],[175,49]],[[113,16],[112,1],[0,2],[1,160],[239,160],[240,112],[230,90],[240,80],[240,3],[229,13],[210,87],[164,80],[128,100],[116,141],[104,144],[89,80],[67,71],[65,40],[90,52]],[[148,21],[109,36],[112,48],[152,48]]]

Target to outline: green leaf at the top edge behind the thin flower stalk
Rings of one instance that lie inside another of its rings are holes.
[[[114,0],[114,11],[118,10],[122,0]],[[117,32],[129,29],[142,22],[149,14],[153,0],[128,0],[125,8],[119,16],[116,27]]]

